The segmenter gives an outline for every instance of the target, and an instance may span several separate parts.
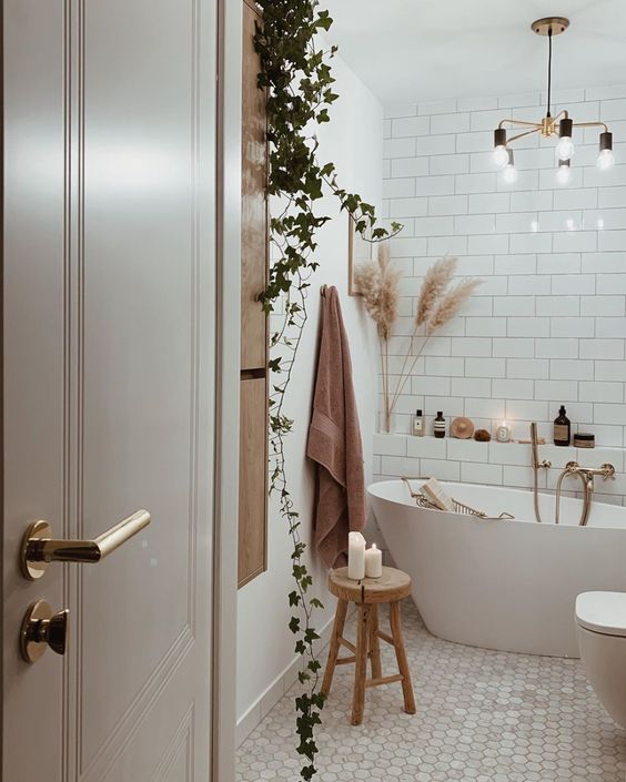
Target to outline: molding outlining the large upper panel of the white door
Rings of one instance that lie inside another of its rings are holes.
[[[89,681],[85,680],[85,658],[84,658],[84,638],[77,638],[75,653],[79,680],[77,683],[79,698],[77,701],[77,720],[75,720],[75,747],[77,747],[77,769],[80,779],[85,782],[91,779],[104,778],[107,773],[119,762],[124,751],[131,745],[133,737],[141,729],[142,722],[149,718],[151,711],[158,705],[161,694],[166,690],[172,678],[178,669],[183,664],[185,658],[190,653],[196,631],[196,535],[195,530],[200,522],[199,518],[199,427],[200,427],[200,313],[202,306],[206,303],[201,301],[201,284],[200,274],[201,265],[199,263],[200,252],[200,220],[199,220],[199,202],[198,195],[201,187],[200,184],[200,163],[199,163],[199,143],[201,134],[201,114],[200,104],[200,84],[201,84],[201,28],[199,24],[199,1],[189,0],[188,13],[191,22],[190,44],[191,44],[191,62],[190,62],[190,177],[193,183],[193,199],[190,204],[190,256],[189,256],[189,274],[190,274],[190,420],[189,420],[189,467],[190,467],[190,484],[189,494],[186,497],[188,508],[188,561],[186,566],[181,570],[181,573],[188,578],[188,598],[186,598],[186,624],[181,628],[172,643],[165,649],[161,659],[148,674],[143,684],[134,694],[130,703],[117,717],[114,727],[101,740],[99,739],[99,748],[95,754],[87,756],[85,733],[89,724],[84,718],[88,713],[85,704],[85,693],[88,692]],[[206,3],[205,3],[206,4]],[[176,13],[182,13],[182,9],[176,7]],[[85,83],[88,79],[87,70],[89,68],[89,19],[88,9],[84,0],[78,0],[77,7],[77,116],[78,123],[75,130],[77,146],[79,150],[78,161],[78,219],[77,219],[77,268],[75,281],[78,285],[78,295],[73,298],[77,302],[77,332],[78,338],[75,344],[77,356],[73,362],[75,368],[75,377],[73,385],[75,387],[75,406],[77,406],[77,429],[74,439],[77,444],[77,465],[75,471],[75,496],[77,496],[77,512],[75,526],[80,537],[88,536],[84,525],[88,511],[84,507],[84,490],[83,480],[85,479],[85,348],[89,349],[88,336],[85,335],[85,318],[90,313],[88,309],[87,280],[89,270],[85,267],[85,244],[89,242],[89,235],[85,234],[85,206],[89,203],[89,191],[85,189],[85,170],[84,160],[88,150],[85,145],[90,133],[89,108],[85,104]],[[91,530],[92,531],[92,530]],[[179,531],[180,535],[180,531]],[[89,571],[84,568],[80,569],[80,575],[75,582],[75,606],[80,617],[79,627],[84,633],[85,627],[89,626],[89,613],[87,609],[85,580],[89,578]]]

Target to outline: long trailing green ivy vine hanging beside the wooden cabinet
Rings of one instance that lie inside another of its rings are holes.
[[[281,517],[293,542],[294,589],[289,595],[293,608],[289,627],[294,633],[295,652],[305,661],[299,678],[303,687],[295,699],[297,752],[304,759],[300,775],[311,780],[316,773],[317,747],[314,731],[321,723],[324,697],[319,691],[321,663],[315,654],[320,636],[313,624],[315,610],[323,605],[310,596],[313,579],[305,563],[306,545],[301,539],[299,512],[289,488],[284,437],[293,420],[284,412],[294,362],[306,324],[306,295],[311,275],[317,268],[316,234],[330,220],[317,214],[316,202],[331,193],[342,211],[349,212],[355,231],[370,242],[378,242],[400,231],[376,222],[374,207],[342,189],[335,165],[317,158],[317,125],[330,122],[329,109],[339,98],[330,60],[336,47],[317,49],[319,33],[327,32],[332,19],[319,10],[316,0],[256,0],[263,24],[256,26],[254,44],[261,59],[259,88],[266,93],[269,175],[267,197],[277,214],[271,217],[271,264],[265,291],[260,296],[271,317],[272,373],[270,394],[270,494],[277,496]]]

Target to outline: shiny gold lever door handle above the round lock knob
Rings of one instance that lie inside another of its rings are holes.
[[[22,539],[22,573],[34,581],[43,576],[49,562],[99,562],[149,524],[148,510],[138,510],[95,540],[54,540],[49,522],[36,521]]]

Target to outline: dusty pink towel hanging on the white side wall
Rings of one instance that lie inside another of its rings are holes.
[[[324,562],[347,562],[347,534],[366,520],[363,445],[339,294],[322,298],[322,334],[306,455],[316,463],[315,546]]]

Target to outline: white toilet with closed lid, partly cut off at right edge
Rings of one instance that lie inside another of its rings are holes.
[[[589,683],[610,717],[626,728],[626,592],[578,595],[576,624]]]

